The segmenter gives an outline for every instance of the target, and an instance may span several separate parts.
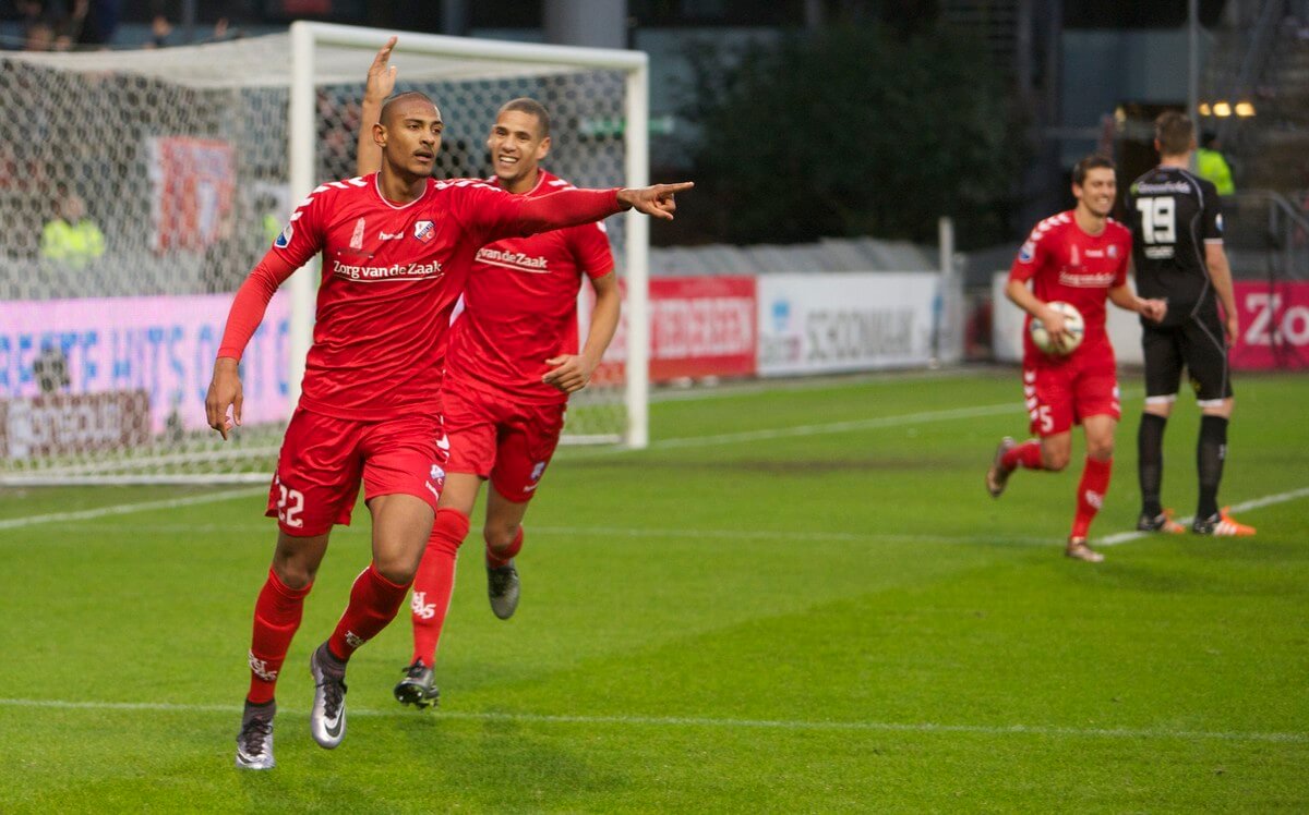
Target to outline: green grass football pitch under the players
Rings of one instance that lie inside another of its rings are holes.
[[[509,621],[474,532],[441,706],[391,699],[402,616],[352,661],[350,734],[323,751],[308,657],[368,560],[356,512],[267,773],[233,768],[275,536],[258,491],[5,489],[0,811],[1306,811],[1309,377],[1237,379],[1220,498],[1259,529],[1240,540],[1128,534],[1123,379],[1100,565],[1060,556],[1080,438],[1069,471],[986,494],[1026,428],[1016,370],[658,400],[649,450],[556,458]],[[1196,424],[1183,395],[1182,515]]]

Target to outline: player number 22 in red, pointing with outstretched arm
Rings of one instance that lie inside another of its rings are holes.
[[[445,463],[439,387],[449,317],[476,250],[632,207],[668,218],[673,194],[690,188],[565,190],[528,199],[479,181],[436,182],[429,175],[442,127],[425,95],[391,98],[372,128],[381,171],[314,190],[242,284],[228,317],[206,398],[209,426],[224,438],[241,423],[241,352],[278,285],[322,252],[314,341],[268,497],[279,535],[255,603],[250,691],[237,737],[241,768],[274,767],[275,683],[330,530],[350,522],[363,481],[373,561],[310,658],[314,740],[331,748],[344,737],[346,663],[395,616],[432,530]]]

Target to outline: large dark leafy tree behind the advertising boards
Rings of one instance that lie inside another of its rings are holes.
[[[963,249],[1009,238],[1025,128],[969,34],[843,26],[689,55],[698,238],[935,242],[942,215]]]

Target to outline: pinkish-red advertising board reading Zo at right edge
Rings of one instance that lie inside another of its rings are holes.
[[[1309,283],[1237,280],[1233,289],[1241,336],[1232,368],[1309,369]]]

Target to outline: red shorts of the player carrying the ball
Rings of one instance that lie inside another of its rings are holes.
[[[1090,353],[1085,353],[1090,352]],[[1071,357],[1022,361],[1022,396],[1033,436],[1056,436],[1088,416],[1122,416],[1114,352],[1079,348]]]

